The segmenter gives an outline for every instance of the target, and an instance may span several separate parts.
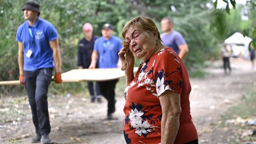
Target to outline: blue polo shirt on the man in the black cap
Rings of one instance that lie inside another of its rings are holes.
[[[94,50],[99,53],[99,68],[117,67],[119,60],[118,53],[122,48],[121,39],[111,36],[108,40],[99,37],[95,40]]]

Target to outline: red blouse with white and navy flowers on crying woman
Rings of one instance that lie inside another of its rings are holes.
[[[158,96],[166,90],[179,93],[181,99],[182,113],[175,144],[198,138],[190,115],[188,72],[177,54],[165,48],[142,63],[125,88],[123,134],[127,144],[161,143],[162,109]]]

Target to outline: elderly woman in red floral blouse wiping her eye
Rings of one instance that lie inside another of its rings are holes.
[[[119,57],[128,64],[124,68],[126,143],[198,144],[189,106],[191,85],[182,60],[161,44],[156,24],[148,17],[128,21],[123,38],[127,43]],[[129,57],[130,52],[133,55]],[[133,56],[141,60],[135,76]]]

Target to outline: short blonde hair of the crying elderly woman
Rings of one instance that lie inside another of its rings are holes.
[[[156,24],[149,17],[137,16],[137,17],[133,18],[132,20],[128,21],[125,24],[125,26],[123,27],[123,32],[122,32],[123,39],[125,39],[126,33],[131,26],[137,26],[138,28],[141,28],[142,30],[146,31],[147,33],[150,33],[153,30],[156,30],[157,34],[158,34],[158,41],[160,41],[160,42],[162,41],[162,39],[160,37],[160,33],[156,27]]]

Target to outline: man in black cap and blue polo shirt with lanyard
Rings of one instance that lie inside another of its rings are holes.
[[[121,39],[112,35],[113,27],[110,23],[106,23],[102,27],[102,37],[95,40],[93,54],[91,57],[91,65],[89,69],[95,68],[97,60],[99,60],[99,68],[115,68],[122,67],[118,53],[122,48]],[[107,119],[113,119],[112,114],[115,109],[115,87],[118,79],[111,81],[101,81],[100,92],[107,99]]]

